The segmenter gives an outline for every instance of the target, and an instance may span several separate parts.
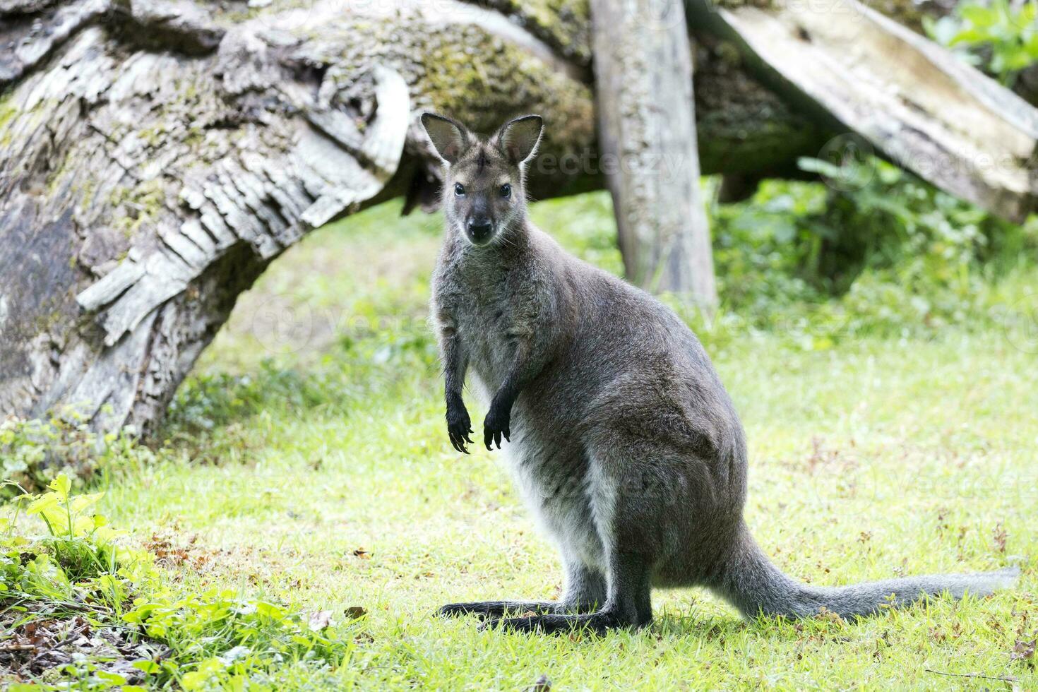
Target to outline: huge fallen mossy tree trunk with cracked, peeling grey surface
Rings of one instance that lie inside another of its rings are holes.
[[[0,415],[149,428],[237,296],[309,229],[435,204],[424,109],[548,120],[536,196],[601,187],[581,0],[0,0]],[[828,138],[696,41],[705,172]]]

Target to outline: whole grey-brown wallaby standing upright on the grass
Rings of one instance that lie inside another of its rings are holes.
[[[1014,583],[1015,570],[843,587],[786,576],[743,521],[745,437],[699,339],[655,298],[568,254],[528,220],[524,169],[542,118],[510,120],[487,139],[433,113],[421,122],[445,171],[432,323],[447,436],[468,453],[470,372],[489,407],[483,443],[510,458],[566,573],[555,602],[456,603],[439,614],[602,633],[649,625],[653,586],[705,586],[745,617],[822,608],[850,617]]]

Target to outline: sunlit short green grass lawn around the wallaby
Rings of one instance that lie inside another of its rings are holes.
[[[180,594],[365,611],[338,665],[272,663],[261,687],[1038,687],[1034,658],[1010,658],[1038,622],[1036,350],[1026,324],[980,317],[805,343],[798,321],[783,323],[791,334],[733,313],[701,335],[747,431],[748,522],[783,569],[845,584],[1015,563],[1015,590],[857,624],[746,622],[706,592],[658,590],[651,628],[603,638],[431,617],[453,601],[553,597],[561,573],[497,455],[446,440],[425,324],[440,221],[394,212],[275,262],[182,388],[167,449],[113,474],[100,501],[137,545],[180,556]],[[590,195],[535,216],[619,271],[608,213]],[[993,287],[992,305],[1035,278]]]

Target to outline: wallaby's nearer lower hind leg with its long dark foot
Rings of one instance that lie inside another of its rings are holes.
[[[569,632],[588,629],[599,634],[625,627],[645,627],[652,622],[650,568],[640,555],[610,554],[605,604],[594,612],[579,614],[547,613],[526,617],[488,620],[484,627],[500,625],[517,632]]]

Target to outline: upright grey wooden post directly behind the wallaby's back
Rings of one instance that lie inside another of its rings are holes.
[[[692,53],[681,0],[592,0],[599,142],[627,278],[712,310]]]

